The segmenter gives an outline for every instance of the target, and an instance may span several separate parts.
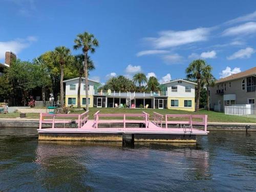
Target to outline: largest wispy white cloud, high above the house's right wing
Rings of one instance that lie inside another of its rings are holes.
[[[150,41],[154,47],[161,49],[205,41],[208,39],[209,33],[209,28],[197,28],[186,31],[161,31],[159,37],[148,37],[145,40]]]

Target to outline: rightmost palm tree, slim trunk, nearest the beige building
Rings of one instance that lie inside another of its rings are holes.
[[[203,69],[203,79],[202,83],[206,87],[206,101],[207,101],[207,111],[210,110],[210,87],[215,84],[215,77],[211,74],[212,67],[210,65],[205,66]]]

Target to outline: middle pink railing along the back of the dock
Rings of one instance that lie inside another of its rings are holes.
[[[143,120],[141,121],[142,123],[145,123],[145,127],[147,128],[148,127],[148,124],[150,123],[150,115],[145,113],[145,112],[142,112],[142,114],[100,114],[99,113],[100,111],[97,111],[95,114],[94,114],[94,127],[98,128],[98,124],[99,123],[120,123],[122,122],[123,123],[123,127],[125,128],[126,127],[126,123],[129,123],[129,122],[138,122],[138,121],[129,121],[126,119],[126,117],[142,117]],[[115,119],[111,119],[111,120],[100,120],[99,118],[100,117],[122,117],[121,120],[115,120]]]

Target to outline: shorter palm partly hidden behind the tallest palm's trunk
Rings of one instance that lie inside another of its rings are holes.
[[[81,88],[82,76],[84,74],[84,71],[83,71],[83,69],[84,69],[84,65],[83,65],[84,55],[83,54],[75,55],[74,59],[75,59],[74,67],[77,69],[78,75],[79,75],[78,90],[77,90],[77,107],[80,108],[81,107],[80,88]],[[94,69],[95,69],[94,63],[90,59],[90,57],[88,56],[88,71],[91,71],[91,70],[94,70]]]

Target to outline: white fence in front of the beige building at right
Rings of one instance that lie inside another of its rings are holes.
[[[256,108],[247,105],[225,106],[225,115],[256,115]]]

